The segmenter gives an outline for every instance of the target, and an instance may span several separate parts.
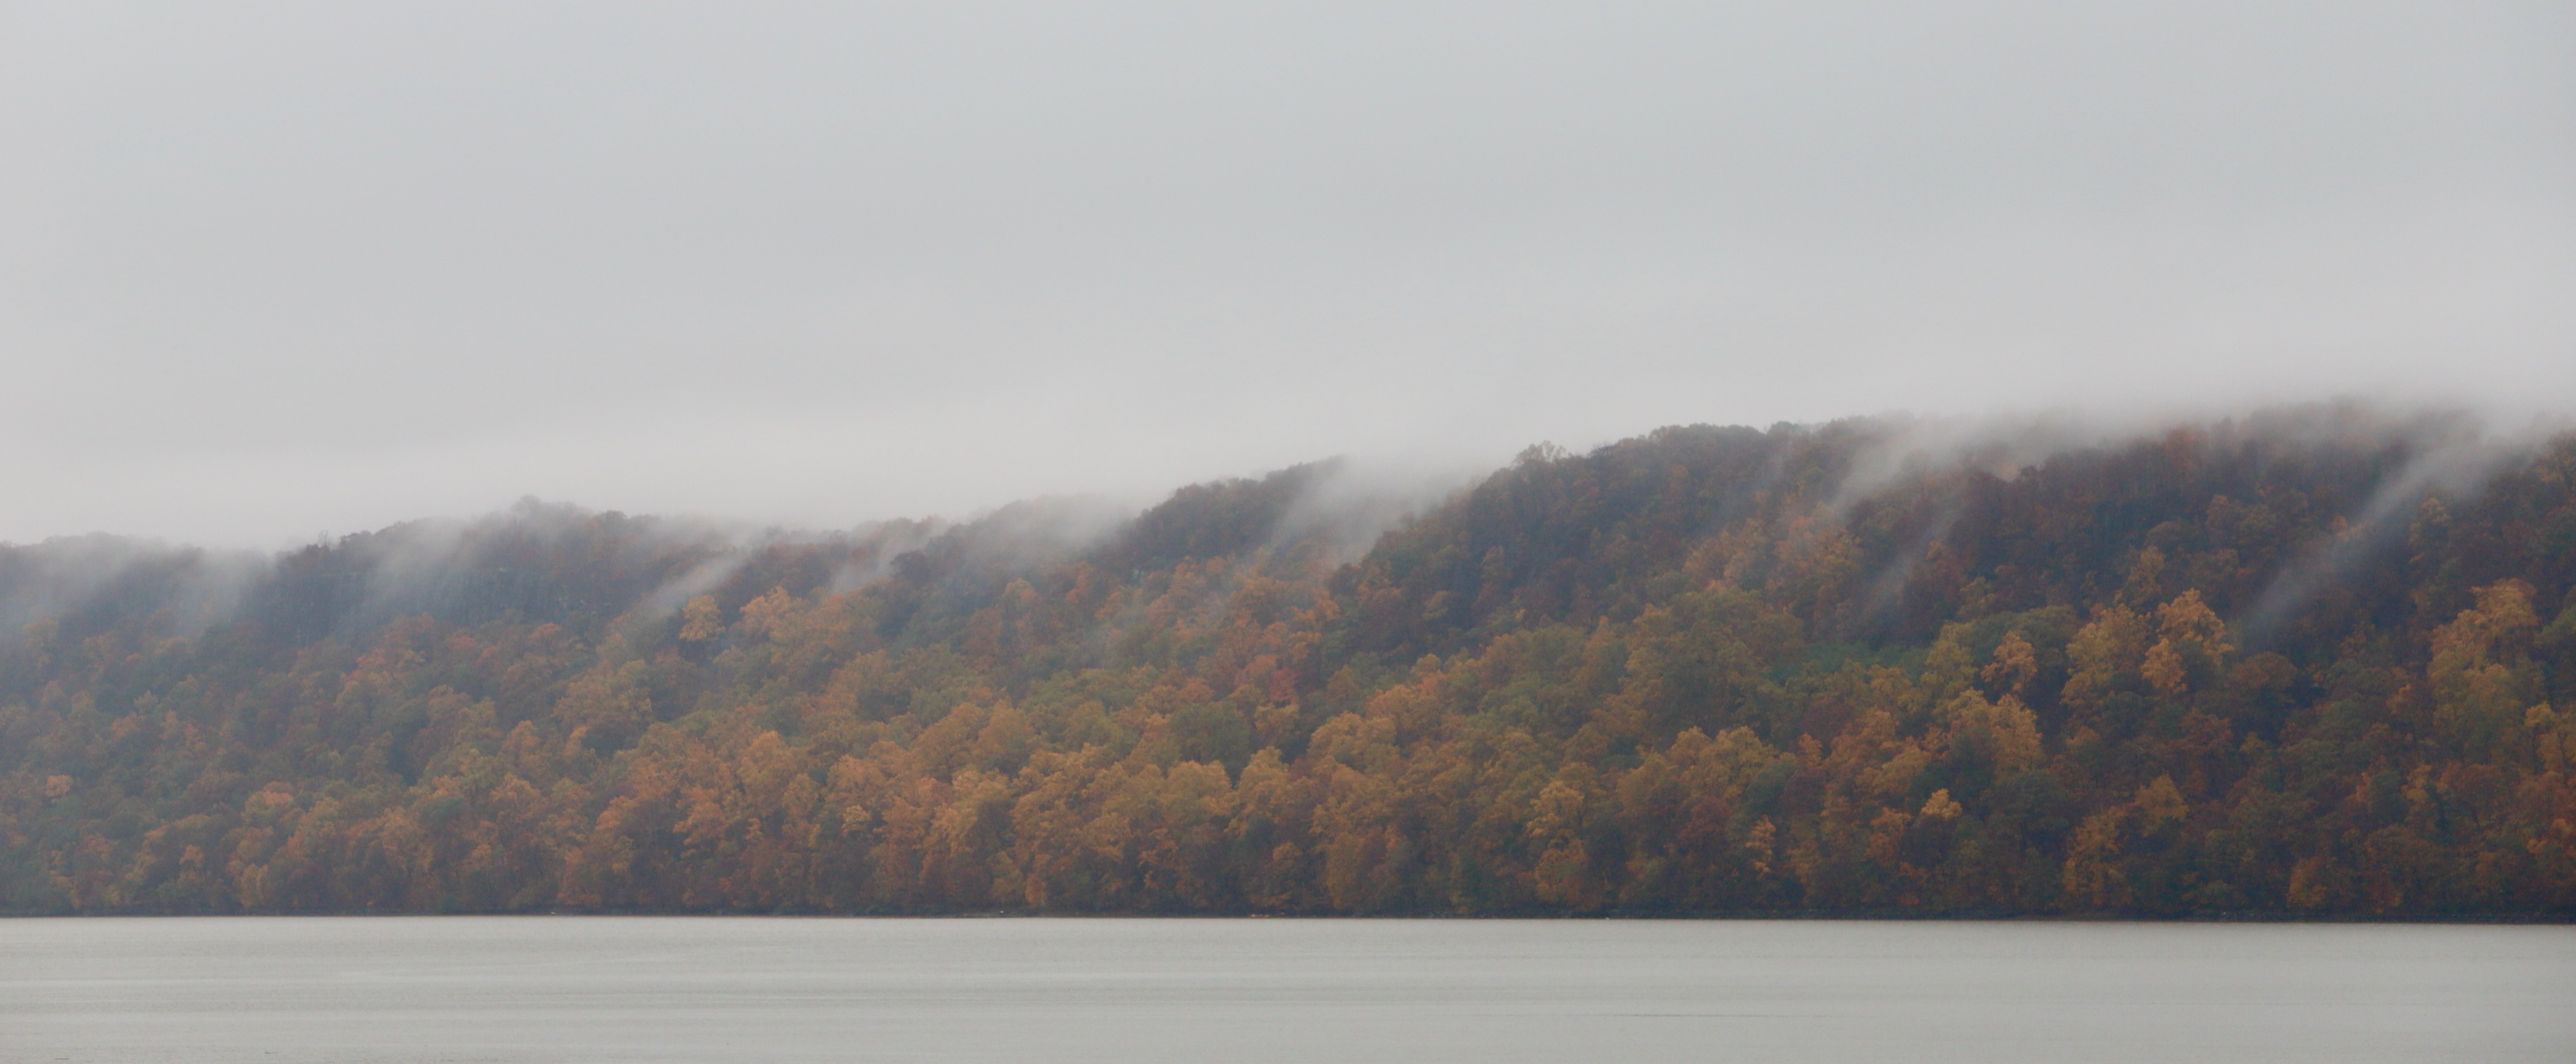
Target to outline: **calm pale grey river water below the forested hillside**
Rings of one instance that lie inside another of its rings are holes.
[[[2576,927],[0,920],[8,1061],[2568,1061]]]

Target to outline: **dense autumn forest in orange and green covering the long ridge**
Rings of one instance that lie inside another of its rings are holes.
[[[0,909],[2576,915],[2576,435],[1922,441],[8,546]]]

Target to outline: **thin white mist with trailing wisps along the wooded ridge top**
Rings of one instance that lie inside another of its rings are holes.
[[[2424,500],[2476,500],[2496,474],[2566,441],[2553,441],[2548,430],[2548,423],[2499,430],[2460,410],[2365,404],[2272,407],[2213,423],[2138,420],[2117,430],[2066,420],[1880,415],[1770,430],[1659,428],[1587,456],[1538,443],[1510,466],[1473,477],[1329,459],[1188,484],[1151,508],[1048,495],[966,520],[925,515],[840,531],[598,513],[528,497],[471,520],[404,520],[276,554],[106,533],[57,536],[28,546],[0,544],[0,641],[13,641],[21,629],[36,634],[31,626],[44,626],[39,639],[77,641],[121,626],[193,636],[234,621],[289,641],[366,641],[407,616],[608,631],[616,623],[670,621],[703,595],[739,608],[768,590],[835,595],[899,577],[981,600],[1010,580],[1074,562],[1136,575],[1249,551],[1283,551],[1296,562],[1280,564],[1329,572],[1386,554],[1388,544],[1396,544],[1394,556],[1404,556],[1404,536],[1381,536],[1417,520],[1533,523],[1530,533],[1553,536],[1561,541],[1556,549],[1577,554],[1602,549],[1605,536],[1628,536],[1628,518],[1595,513],[1589,502],[1553,500],[1553,510],[1540,513],[1497,502],[1515,497],[1515,477],[1548,464],[1628,469],[1618,477],[1631,479],[1651,479],[1662,464],[1672,466],[1672,477],[1690,466],[1716,495],[1692,505],[1705,510],[1692,518],[1700,526],[1667,528],[1664,536],[1710,544],[1762,508],[1811,508],[1798,518],[1819,523],[1808,533],[1855,526],[1870,510],[1917,513],[1899,536],[1909,544],[1888,544],[1888,554],[1870,562],[1868,582],[1878,590],[1860,595],[1857,613],[1839,621],[1839,634],[1860,636],[1878,629],[1875,616],[1917,580],[1917,567],[1955,538],[1953,523],[1981,505],[1981,484],[2022,482],[2038,466],[2089,469],[2123,448],[2156,446],[2159,435],[2169,448],[2205,451],[2208,461],[2236,469],[2210,474],[2218,479],[2202,489],[2259,495],[2264,477],[2287,477],[2318,495],[2313,505],[2336,510],[2306,515],[2331,518],[2331,536],[2246,569],[2239,582],[2259,580],[2236,595],[2213,590],[2231,618],[2259,639],[2321,587],[2388,554]],[[2058,505],[2069,513],[2050,520],[2094,520],[2079,513],[2087,505]],[[1574,526],[1561,528],[1569,520]],[[2117,523],[2117,515],[2102,520]],[[1522,569],[1533,564],[1520,559]],[[1538,569],[1525,577],[1538,580]]]

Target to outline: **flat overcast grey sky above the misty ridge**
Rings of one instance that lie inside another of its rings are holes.
[[[2576,407],[2576,5],[0,0],[0,538]]]

